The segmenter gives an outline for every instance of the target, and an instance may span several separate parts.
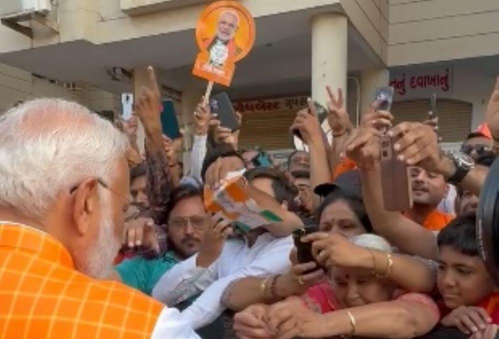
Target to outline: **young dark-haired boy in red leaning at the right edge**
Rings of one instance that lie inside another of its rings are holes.
[[[441,324],[478,336],[495,332],[499,293],[479,253],[476,216],[453,220],[440,231],[438,247],[437,284],[445,304]]]

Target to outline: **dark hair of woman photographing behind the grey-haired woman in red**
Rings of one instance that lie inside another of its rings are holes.
[[[367,233],[373,233],[373,225],[371,224],[371,220],[369,219],[369,215],[367,214],[362,199],[349,194],[341,187],[336,187],[336,189],[334,189],[321,201],[321,203],[315,210],[315,219],[317,223],[319,223],[320,216],[322,215],[326,207],[338,200],[344,201],[348,205],[348,207],[352,209],[353,213],[362,223],[362,226],[364,226]]]

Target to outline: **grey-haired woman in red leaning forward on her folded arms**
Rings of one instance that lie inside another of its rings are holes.
[[[322,235],[314,236],[316,239]],[[238,335],[245,339],[342,335],[414,338],[428,333],[439,321],[439,310],[431,298],[419,293],[404,293],[387,279],[394,265],[391,246],[372,234],[351,238],[351,245],[369,256],[372,254],[372,258],[374,253],[384,253],[385,272],[380,274],[358,267],[355,260],[351,265],[343,261],[339,266],[334,253],[314,244],[315,252],[323,251],[316,253],[319,262],[321,256],[326,258],[322,262],[329,268],[330,288],[314,286],[301,297],[290,297],[271,306],[250,306],[235,317]]]

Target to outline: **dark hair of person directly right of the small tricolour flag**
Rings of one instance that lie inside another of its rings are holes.
[[[272,180],[272,189],[274,191],[275,199],[279,203],[286,201],[288,209],[294,210],[294,198],[298,194],[298,189],[280,171],[267,167],[258,167],[248,170],[245,173],[245,177],[250,182],[257,178]]]

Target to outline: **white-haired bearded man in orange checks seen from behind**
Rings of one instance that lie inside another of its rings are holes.
[[[100,280],[122,243],[127,147],[74,102],[33,100],[0,117],[2,338],[199,338],[177,310]]]

